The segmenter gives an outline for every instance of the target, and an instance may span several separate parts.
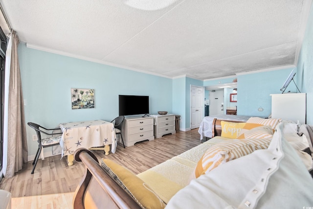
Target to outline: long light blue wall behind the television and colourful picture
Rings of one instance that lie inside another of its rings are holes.
[[[69,121],[118,116],[118,94],[148,95],[150,114],[172,112],[172,79],[120,69],[19,45],[25,121],[56,127]],[[71,88],[95,89],[94,109],[71,109]],[[26,129],[28,152],[38,147]]]

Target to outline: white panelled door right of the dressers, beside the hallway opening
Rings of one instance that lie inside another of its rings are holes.
[[[190,107],[191,107],[191,129],[199,128],[203,118],[203,89],[202,87],[191,87],[190,94]]]

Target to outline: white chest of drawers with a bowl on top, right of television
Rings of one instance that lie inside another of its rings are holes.
[[[161,138],[165,134],[175,134],[175,115],[151,115],[154,117],[155,138]]]

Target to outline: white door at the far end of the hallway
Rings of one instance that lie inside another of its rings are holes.
[[[224,90],[210,91],[209,116],[224,115]]]

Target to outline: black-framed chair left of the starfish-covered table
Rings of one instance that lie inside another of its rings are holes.
[[[33,167],[33,170],[31,171],[31,174],[33,174],[34,170],[35,170],[35,167],[36,167],[36,164],[37,164],[37,161],[38,161],[38,158],[39,158],[39,155],[40,155],[40,153],[42,151],[42,148],[60,144],[60,140],[61,140],[61,137],[62,137],[62,131],[61,131],[60,128],[46,129],[45,127],[42,127],[41,125],[38,125],[38,124],[32,123],[32,122],[28,122],[27,124],[30,127],[32,127],[33,129],[35,129],[35,131],[37,133],[37,138],[38,138],[38,150],[37,150],[35,159],[33,161],[34,167]],[[41,130],[40,128],[45,129],[46,131],[52,131],[52,133],[46,133],[45,131]],[[59,132],[58,133],[53,133],[54,130],[60,130],[60,133]],[[41,133],[43,133],[45,135],[51,135],[52,137],[42,139],[41,138]],[[54,135],[58,135],[58,136],[54,136]]]

